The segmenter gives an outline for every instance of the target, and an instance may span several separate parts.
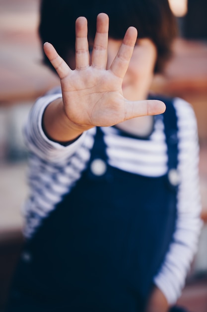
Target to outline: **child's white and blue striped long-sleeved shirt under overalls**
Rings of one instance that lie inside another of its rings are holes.
[[[96,128],[84,132],[69,146],[47,138],[42,129],[42,116],[49,103],[61,98],[61,92],[39,98],[31,110],[25,127],[26,145],[30,151],[28,182],[30,196],[24,205],[24,235],[32,237],[42,220],[74,187],[86,168],[93,147]],[[202,222],[199,190],[199,144],[197,124],[192,107],[174,99],[178,117],[178,217],[173,242],[161,270],[154,277],[155,285],[168,302],[178,299],[198,245]],[[156,118],[147,140],[127,137],[115,127],[102,128],[108,162],[121,170],[143,176],[158,177],[167,172],[167,146],[162,118]]]

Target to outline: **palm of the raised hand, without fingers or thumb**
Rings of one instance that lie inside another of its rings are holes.
[[[66,114],[75,124],[111,126],[125,119],[122,79],[111,71],[74,70],[61,84]]]

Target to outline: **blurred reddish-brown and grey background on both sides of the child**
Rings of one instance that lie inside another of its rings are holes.
[[[207,1],[169,1],[179,37],[172,60],[151,89],[184,98],[197,116],[204,227],[178,304],[207,312]],[[0,312],[22,245],[21,207],[28,194],[22,127],[35,99],[59,84],[41,63],[38,11],[39,0],[0,0]]]

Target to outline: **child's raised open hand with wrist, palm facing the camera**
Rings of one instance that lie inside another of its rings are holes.
[[[50,43],[44,44],[44,51],[60,77],[63,95],[47,107],[43,118],[47,135],[55,141],[71,141],[95,126],[112,126],[165,110],[160,101],[131,102],[123,97],[122,81],[137,40],[137,30],[128,28],[117,56],[106,70],[108,24],[108,16],[100,13],[89,64],[87,20],[77,18],[75,70],[69,68]]]

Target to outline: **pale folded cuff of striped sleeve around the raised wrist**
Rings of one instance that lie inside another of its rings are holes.
[[[64,162],[83,142],[85,133],[75,142],[65,147],[47,138],[42,129],[42,117],[46,107],[54,100],[61,98],[61,93],[47,94],[39,98],[32,107],[27,124],[24,127],[25,144],[36,156],[51,162]]]

